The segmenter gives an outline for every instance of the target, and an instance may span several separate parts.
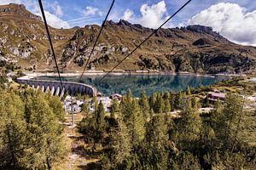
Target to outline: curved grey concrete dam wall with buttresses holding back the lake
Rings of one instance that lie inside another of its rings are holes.
[[[62,82],[62,89],[61,82],[57,81],[32,80],[20,77],[18,78],[18,82],[20,84],[27,84],[32,88],[41,88],[44,92],[49,92],[52,95],[58,95],[60,97],[64,94],[96,96],[96,88],[79,82]]]

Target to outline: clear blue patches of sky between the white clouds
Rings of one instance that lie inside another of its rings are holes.
[[[44,3],[45,2],[46,1],[44,1]],[[87,24],[101,24],[108,12],[108,8],[112,3],[112,0],[47,1],[47,3],[54,2],[58,2],[62,8],[62,20],[69,21],[70,26],[85,26]],[[131,9],[135,15],[140,16],[140,8],[143,6],[143,4],[148,4],[148,6],[151,6],[160,2],[160,0],[116,0],[113,6],[113,11],[110,14],[110,19],[121,19],[126,9]],[[175,12],[175,10],[177,10],[177,8],[182,6],[183,3],[187,2],[187,0],[165,0],[164,2],[166,3],[167,13],[172,14]],[[247,8],[248,11],[256,9],[256,1],[253,0],[192,0],[181,13],[177,14],[177,17],[172,20],[172,23],[178,25],[181,22],[186,22],[195,14],[200,13],[201,10],[209,8],[212,4],[216,3],[237,3],[241,7]],[[100,14],[96,13],[85,16],[84,10],[86,10],[87,7],[97,8]]]

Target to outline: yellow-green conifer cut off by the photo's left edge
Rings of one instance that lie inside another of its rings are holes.
[[[17,95],[0,92],[0,169],[18,169],[26,149],[24,104]]]

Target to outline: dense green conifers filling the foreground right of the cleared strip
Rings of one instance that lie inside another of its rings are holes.
[[[80,129],[84,138],[102,144],[102,169],[251,169],[255,148],[241,140],[242,105],[240,96],[228,94],[213,111],[200,114],[201,100],[191,95],[148,99],[142,92],[135,99],[129,91],[119,107],[114,104],[115,123],[101,135],[95,137],[103,121],[94,118],[103,120],[101,109],[85,117]],[[177,109],[181,113],[173,118],[169,112]]]

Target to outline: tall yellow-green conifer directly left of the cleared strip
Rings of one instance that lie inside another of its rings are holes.
[[[26,99],[27,144],[23,161],[27,168],[52,168],[66,150],[58,119],[40,91]]]

